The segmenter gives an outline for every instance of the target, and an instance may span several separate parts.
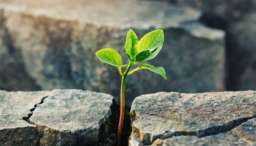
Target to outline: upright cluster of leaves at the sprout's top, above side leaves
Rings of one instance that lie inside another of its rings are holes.
[[[129,61],[136,64],[154,58],[160,52],[162,46],[163,30],[149,32],[138,41],[138,36],[130,29],[126,36],[124,49]]]

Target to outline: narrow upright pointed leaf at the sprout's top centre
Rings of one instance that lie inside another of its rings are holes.
[[[127,58],[130,60],[131,57],[135,57],[138,51],[138,36],[133,32],[132,29],[129,30],[126,36],[126,46],[124,47],[126,50]]]

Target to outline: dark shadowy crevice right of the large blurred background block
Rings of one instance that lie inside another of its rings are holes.
[[[246,52],[242,51],[244,54],[241,55],[239,52],[239,45],[235,40],[235,36],[233,36],[233,30],[230,29],[232,26],[232,22],[227,20],[224,17],[217,16],[212,12],[204,12],[199,19],[199,21],[207,27],[212,27],[215,29],[223,30],[226,35],[224,38],[224,48],[225,48],[225,78],[224,78],[224,86],[226,91],[237,91],[238,88],[238,80],[240,75],[244,71],[244,58],[241,56],[246,56]],[[244,50],[244,49],[243,49]]]

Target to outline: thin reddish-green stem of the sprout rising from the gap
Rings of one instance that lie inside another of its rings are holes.
[[[126,71],[123,74],[122,82],[121,82],[121,94],[120,94],[120,117],[119,117],[119,124],[118,124],[118,135],[117,135],[117,145],[120,145],[121,142],[121,133],[123,128],[123,122],[124,122],[124,109],[125,109],[125,96],[124,91],[126,89],[126,78],[128,76],[128,72],[130,70],[130,67],[132,67],[132,64],[129,64],[127,66]]]

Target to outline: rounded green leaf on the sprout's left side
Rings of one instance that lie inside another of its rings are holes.
[[[116,52],[114,49],[106,48],[101,49],[96,52],[96,56],[99,58],[99,60],[103,61],[104,63],[108,63],[112,66],[116,66],[119,68],[122,68],[122,58],[121,55]]]

